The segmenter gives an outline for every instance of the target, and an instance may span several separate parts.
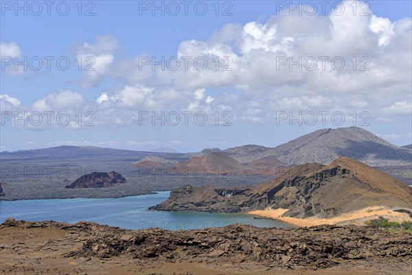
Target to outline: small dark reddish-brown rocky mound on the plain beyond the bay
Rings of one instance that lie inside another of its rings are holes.
[[[115,184],[124,184],[126,179],[115,171],[108,173],[103,172],[93,172],[87,175],[82,175],[73,181],[66,188],[100,188],[109,187]]]

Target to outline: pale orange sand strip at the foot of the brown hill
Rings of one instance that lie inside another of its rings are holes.
[[[363,208],[361,210],[356,210],[352,212],[347,212],[341,214],[337,217],[330,219],[320,219],[317,217],[309,217],[304,219],[293,218],[293,217],[283,217],[283,214],[288,211],[288,209],[271,209],[266,210],[253,210],[248,212],[248,214],[255,214],[261,217],[267,217],[271,219],[277,219],[279,221],[284,221],[286,223],[291,223],[297,226],[312,226],[312,225],[335,225],[335,224],[358,224],[364,225],[364,222],[369,219],[376,219],[379,216],[389,219],[389,221],[398,221],[399,223],[405,220],[411,220],[409,214],[400,213],[391,210],[387,206],[371,206]]]

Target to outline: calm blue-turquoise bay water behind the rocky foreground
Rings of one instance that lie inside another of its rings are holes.
[[[232,223],[244,223],[258,227],[288,227],[290,225],[253,215],[238,213],[163,212],[148,211],[168,199],[170,192],[140,195],[117,199],[30,199],[0,201],[0,222],[6,218],[25,221],[60,221],[76,223],[93,221],[125,229],[158,227],[167,230],[201,229],[221,227]]]

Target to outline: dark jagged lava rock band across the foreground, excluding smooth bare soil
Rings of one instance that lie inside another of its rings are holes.
[[[412,254],[412,238],[409,233],[386,232],[356,225],[282,229],[234,224],[224,228],[167,231],[159,228],[124,230],[87,222],[70,225],[54,221],[38,223],[7,219],[0,225],[0,230],[6,227],[34,226],[54,226],[67,232],[76,228],[74,238],[75,241],[82,241],[82,246],[71,250],[65,256],[82,262],[93,262],[93,258],[130,256],[144,262],[157,263],[258,263],[275,269],[315,270],[341,264],[347,266],[351,263],[354,263],[356,268],[371,267],[377,263],[380,266],[394,262],[408,263]],[[61,238],[67,236],[62,234]],[[0,246],[3,250],[14,248],[19,249],[19,245],[10,248],[7,245]],[[52,243],[45,243],[41,249],[47,253],[57,248]]]

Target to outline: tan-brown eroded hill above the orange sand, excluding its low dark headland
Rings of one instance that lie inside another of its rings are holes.
[[[289,209],[285,214],[291,217],[334,217],[369,206],[412,208],[412,188],[349,157],[328,166],[297,166],[252,192],[255,201]]]

